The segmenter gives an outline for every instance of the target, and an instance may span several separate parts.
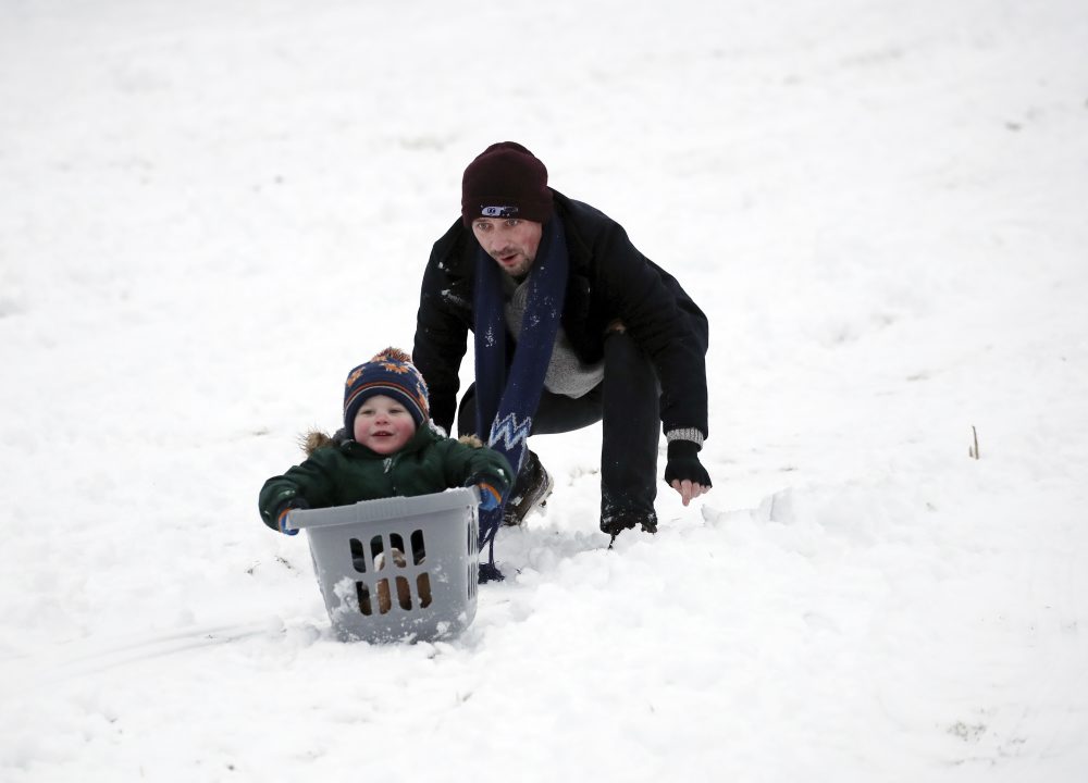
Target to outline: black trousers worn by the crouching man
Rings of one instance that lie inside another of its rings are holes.
[[[605,337],[605,377],[582,397],[544,389],[531,435],[553,435],[602,422],[601,520],[654,520],[660,389],[653,364],[626,332]],[[477,433],[475,384],[457,409],[459,435]]]

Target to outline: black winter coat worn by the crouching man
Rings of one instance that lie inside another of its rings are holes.
[[[574,351],[583,361],[598,361],[605,330],[621,321],[657,371],[665,432],[695,427],[707,435],[706,315],[672,275],[639,252],[619,223],[552,192],[570,254],[561,323]],[[447,430],[473,325],[479,250],[471,229],[458,220],[434,244],[420,291],[412,362],[426,381],[432,419]]]

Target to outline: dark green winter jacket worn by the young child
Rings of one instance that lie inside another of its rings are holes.
[[[403,449],[387,457],[348,438],[343,430],[335,438],[311,434],[307,453],[305,462],[261,487],[261,519],[272,530],[276,530],[280,511],[296,498],[305,499],[310,508],[326,508],[428,495],[480,482],[505,496],[512,476],[509,462],[497,451],[479,440],[446,437],[431,426],[419,427]]]

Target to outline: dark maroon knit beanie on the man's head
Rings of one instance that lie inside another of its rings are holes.
[[[547,169],[515,141],[494,144],[469,163],[461,178],[461,219],[518,217],[544,223],[552,214]]]

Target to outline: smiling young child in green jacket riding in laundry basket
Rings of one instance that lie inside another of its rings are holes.
[[[287,523],[292,509],[460,486],[478,486],[480,507],[491,510],[512,478],[509,462],[497,451],[475,438],[449,438],[431,424],[426,384],[411,358],[396,348],[348,374],[344,428],[333,437],[310,433],[306,451],[301,464],[264,482],[258,501],[264,524],[287,535],[298,533]]]

